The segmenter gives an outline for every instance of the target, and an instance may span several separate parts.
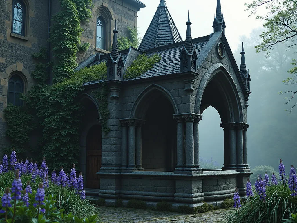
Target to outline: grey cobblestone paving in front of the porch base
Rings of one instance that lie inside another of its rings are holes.
[[[131,208],[99,207],[104,223],[219,223],[230,209],[219,209],[200,214],[181,214],[168,211],[150,211]],[[232,209],[232,208],[231,208]]]

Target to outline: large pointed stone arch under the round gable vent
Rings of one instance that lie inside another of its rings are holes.
[[[195,113],[202,114],[209,106],[213,106],[219,112],[222,123],[244,121],[235,82],[221,63],[206,71],[198,87]]]

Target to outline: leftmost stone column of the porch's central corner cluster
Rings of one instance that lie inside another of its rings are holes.
[[[181,116],[173,117],[177,121],[177,165],[175,170],[184,170],[184,122]]]

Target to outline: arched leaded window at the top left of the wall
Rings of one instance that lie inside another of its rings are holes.
[[[24,35],[24,7],[19,1],[15,1],[12,9],[12,32]]]

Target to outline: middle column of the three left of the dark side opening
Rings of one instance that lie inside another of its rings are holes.
[[[129,162],[127,170],[137,170],[135,164],[135,150],[136,150],[136,125],[135,120],[129,120]]]

